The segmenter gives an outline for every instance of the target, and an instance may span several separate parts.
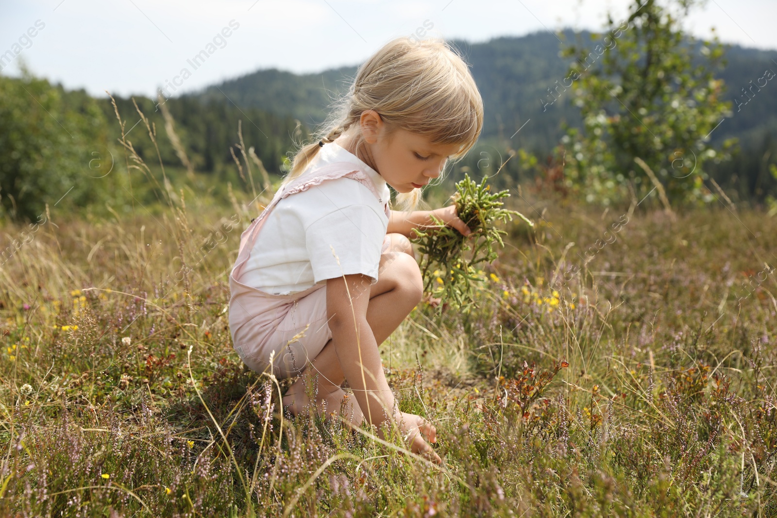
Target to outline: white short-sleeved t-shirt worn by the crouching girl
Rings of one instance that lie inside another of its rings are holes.
[[[381,199],[389,200],[382,176],[336,141],[324,144],[308,171],[333,162],[357,165],[354,169],[367,173]],[[285,197],[270,211],[241,282],[270,294],[296,293],[351,273],[364,273],[376,283],[388,225],[383,203],[366,186],[350,178],[327,180]]]

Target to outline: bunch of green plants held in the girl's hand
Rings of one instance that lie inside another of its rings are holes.
[[[507,189],[491,193],[487,179],[486,176],[477,184],[465,174],[464,179],[456,183],[456,193],[451,196],[458,217],[472,230],[472,235],[462,235],[432,216],[434,225],[425,231],[413,229],[415,236],[410,239],[421,253],[423,291],[464,311],[474,306],[474,288],[486,280],[483,270],[478,267],[497,259],[497,243],[504,246],[502,236],[507,232],[496,227],[497,221],[507,223],[517,216],[534,226],[520,212],[503,208],[504,203],[500,200],[510,193]],[[438,306],[442,307],[442,304]]]

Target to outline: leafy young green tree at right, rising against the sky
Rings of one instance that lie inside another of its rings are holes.
[[[699,43],[681,28],[696,3],[670,0],[662,7],[635,0],[628,19],[616,24],[608,14],[607,32],[591,36],[593,49],[563,49],[575,61],[562,88],[572,89],[584,119],[582,130],[566,127],[562,138],[563,147],[572,148],[566,181],[588,201],[622,199],[629,184],[641,199],[657,182],[671,200],[712,199],[704,164],[729,158],[735,139],[720,149],[709,145],[731,103],[723,101],[723,81],[713,76],[723,64],[723,46],[717,37]]]

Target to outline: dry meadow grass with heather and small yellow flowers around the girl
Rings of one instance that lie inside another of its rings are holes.
[[[0,514],[777,514],[775,219],[529,199],[476,308],[420,305],[382,345],[441,468],[287,419],[289,381],[242,366],[228,272],[256,203],[51,214],[0,269]]]

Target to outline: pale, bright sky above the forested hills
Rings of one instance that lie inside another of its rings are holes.
[[[92,96],[155,96],[165,86],[176,96],[260,68],[310,73],[360,64],[416,31],[479,43],[562,27],[599,30],[608,11],[622,19],[631,3],[0,0],[0,74],[16,77],[24,64]],[[685,29],[709,37],[714,27],[723,42],[777,49],[775,15],[777,0],[707,0]]]

